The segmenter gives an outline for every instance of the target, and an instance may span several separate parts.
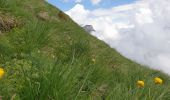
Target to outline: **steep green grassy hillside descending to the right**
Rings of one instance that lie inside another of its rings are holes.
[[[42,11],[51,19],[38,19]],[[22,23],[0,36],[4,100],[170,98],[169,77],[124,58],[73,21],[60,20],[59,10],[44,1],[0,0],[0,12]],[[154,84],[156,76],[163,85]],[[137,88],[137,80],[144,80],[145,87]]]

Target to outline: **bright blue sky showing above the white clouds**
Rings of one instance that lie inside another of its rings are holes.
[[[136,0],[102,0],[99,4],[94,5],[90,0],[82,0],[81,4],[84,5],[86,9],[92,10],[96,8],[111,8],[114,6],[132,3],[134,1]],[[67,11],[76,5],[75,0],[48,0],[48,2],[63,11]]]

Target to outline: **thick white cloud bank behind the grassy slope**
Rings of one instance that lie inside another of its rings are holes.
[[[122,55],[170,74],[170,0],[93,11],[77,4],[66,13],[79,25],[93,25],[91,34]]]

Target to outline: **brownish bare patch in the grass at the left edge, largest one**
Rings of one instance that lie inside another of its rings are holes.
[[[10,31],[16,26],[17,23],[13,17],[9,17],[0,13],[0,32]]]

